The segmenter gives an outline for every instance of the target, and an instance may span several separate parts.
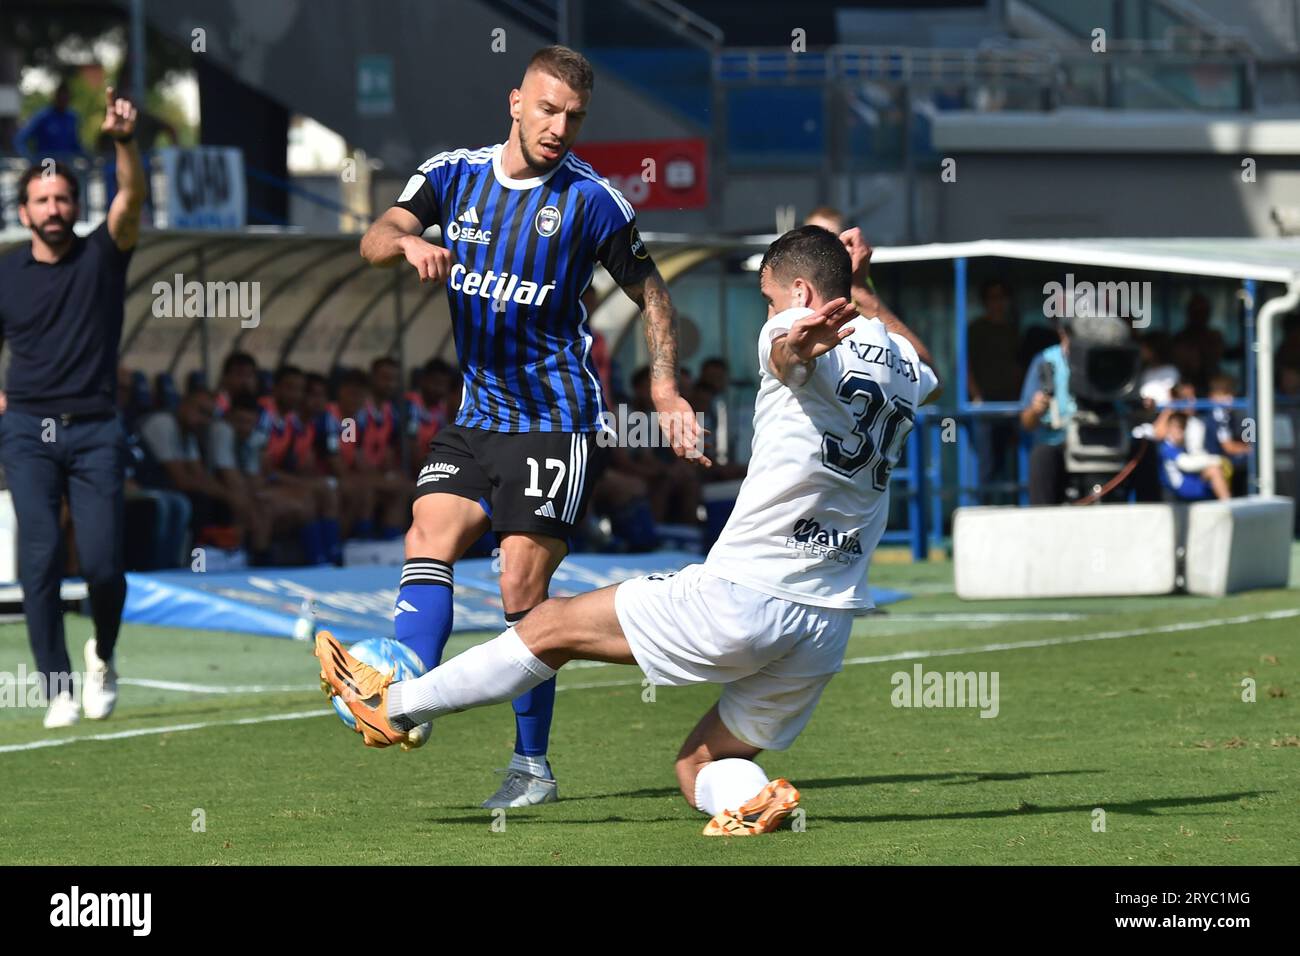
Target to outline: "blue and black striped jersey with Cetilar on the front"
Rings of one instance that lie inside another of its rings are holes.
[[[627,286],[654,271],[632,204],[572,152],[545,176],[502,172],[502,146],[439,152],[395,203],[442,228],[464,395],[456,424],[594,432],[602,412],[582,293],[595,264]]]

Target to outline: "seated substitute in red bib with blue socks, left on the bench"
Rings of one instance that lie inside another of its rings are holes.
[[[265,436],[261,472],[266,483],[311,501],[312,520],[303,527],[309,564],[342,564],[338,486],[316,471],[312,436],[302,420],[307,377],[296,365],[276,369],[269,395],[263,397],[260,431]]]

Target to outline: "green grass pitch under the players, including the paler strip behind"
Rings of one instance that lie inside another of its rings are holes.
[[[567,669],[562,803],[494,819],[477,804],[508,758],[508,706],[372,752],[326,715],[308,645],[129,627],[118,669],[140,683],[110,721],[46,731],[42,711],[0,708],[0,864],[1300,862],[1300,575],[1223,600],[980,604],[942,563],[872,581],[914,597],[857,622],[809,730],[759,757],[806,814],[768,838],[705,839],[676,792],[712,687],[647,700],[634,669]],[[77,659],[88,622],[68,630]],[[918,661],[997,671],[997,717],[893,706]],[[0,670],[18,662],[25,628],[0,626]]]

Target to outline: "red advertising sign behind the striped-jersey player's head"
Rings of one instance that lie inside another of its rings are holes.
[[[708,206],[708,143],[705,139],[580,142],[573,152],[590,163],[636,209]]]

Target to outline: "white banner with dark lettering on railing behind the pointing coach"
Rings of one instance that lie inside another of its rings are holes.
[[[172,229],[243,229],[243,153],[224,146],[160,150]]]

